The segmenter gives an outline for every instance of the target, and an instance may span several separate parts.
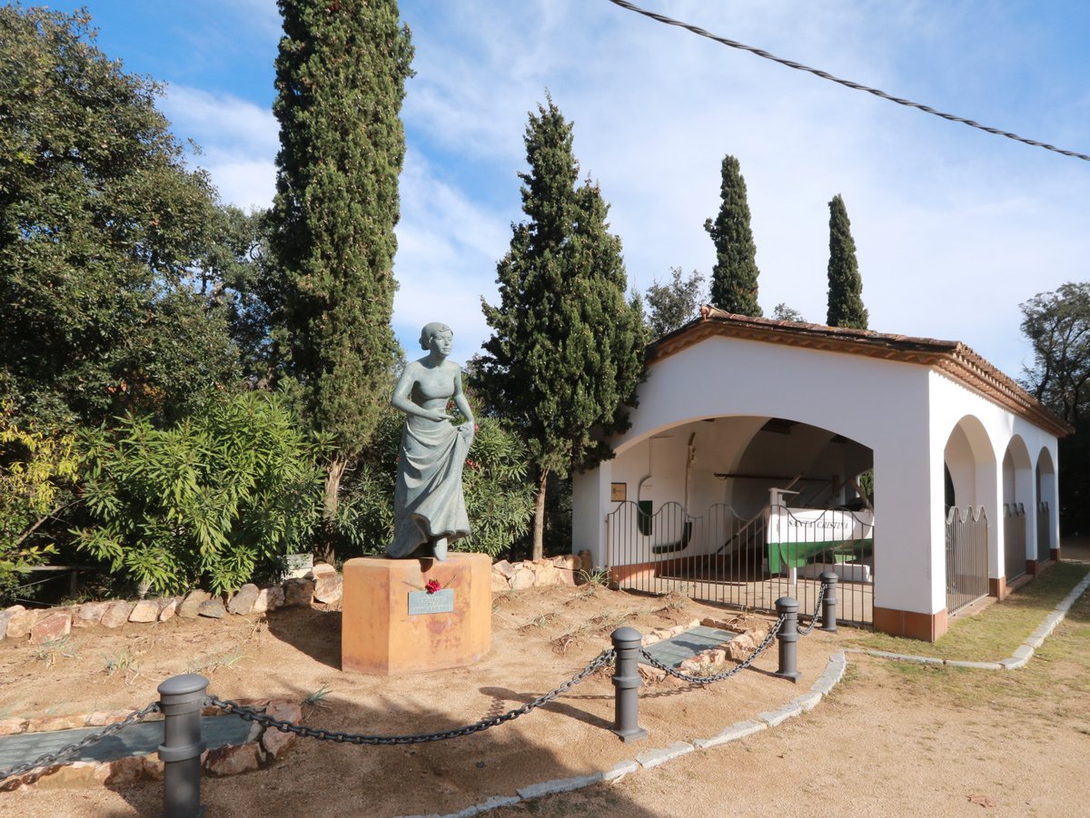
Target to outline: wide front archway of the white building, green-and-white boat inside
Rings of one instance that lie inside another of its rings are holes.
[[[873,466],[867,445],[783,417],[700,418],[629,441],[611,462],[614,578],[771,609],[785,595],[804,607],[832,569],[841,616],[870,623]]]

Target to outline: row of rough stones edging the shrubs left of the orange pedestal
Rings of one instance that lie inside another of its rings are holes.
[[[223,619],[228,614],[263,613],[284,606],[340,608],[342,581],[332,565],[319,563],[305,576],[258,588],[246,583],[234,594],[214,597],[191,590],[183,597],[106,600],[59,608],[27,609],[14,605],[0,611],[0,642],[29,639],[32,645],[57,642],[81,627],[121,627],[129,622],[166,622],[183,619]]]

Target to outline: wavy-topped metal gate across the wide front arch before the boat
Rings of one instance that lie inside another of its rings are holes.
[[[768,542],[770,520],[780,533],[786,521],[792,536],[774,539],[789,541]],[[812,611],[819,575],[834,571],[840,621],[874,621],[874,526],[851,511],[766,506],[743,517],[719,503],[694,517],[676,502],[651,513],[628,501],[606,516],[606,542],[610,579],[620,588],[759,611],[790,596]]]

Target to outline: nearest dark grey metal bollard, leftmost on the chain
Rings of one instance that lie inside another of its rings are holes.
[[[159,685],[159,708],[164,715],[162,760],[164,815],[166,818],[202,818],[201,710],[208,680],[195,673],[171,676]]]

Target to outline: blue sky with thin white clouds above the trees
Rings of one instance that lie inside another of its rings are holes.
[[[643,0],[715,34],[983,124],[1090,152],[1090,4],[1078,0]],[[225,202],[275,183],[275,0],[86,0],[98,45],[166,86],[175,133]],[[825,316],[828,200],[851,218],[871,328],[965,341],[1007,374],[1029,363],[1018,305],[1088,279],[1090,162],[849,90],[606,0],[402,0],[416,76],[393,325],[487,338],[496,261],[522,218],[526,114],[548,88],[574,121],[641,292],[707,276],[719,163],[749,188],[765,314]]]

